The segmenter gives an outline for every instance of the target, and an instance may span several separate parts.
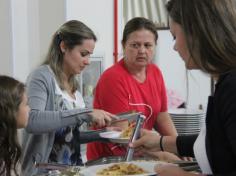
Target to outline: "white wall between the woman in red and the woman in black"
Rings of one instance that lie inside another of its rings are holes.
[[[158,31],[159,39],[155,62],[162,70],[166,87],[177,91],[191,108],[200,104],[206,106],[210,95],[210,78],[201,71],[188,71],[189,88],[186,87],[187,74],[183,60],[173,50],[174,41],[169,30]],[[189,91],[189,97],[187,92]]]

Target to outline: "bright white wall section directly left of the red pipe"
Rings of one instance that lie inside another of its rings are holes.
[[[104,54],[104,68],[113,64],[113,0],[66,0],[66,20],[76,19],[88,25],[98,41],[94,54]]]

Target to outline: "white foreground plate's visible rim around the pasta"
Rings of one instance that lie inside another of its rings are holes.
[[[154,166],[156,164],[169,164],[169,163],[165,163],[165,162],[154,162],[154,161],[132,161],[129,163],[133,163],[141,168],[143,168],[144,170],[146,170],[148,173],[146,174],[138,174],[138,175],[132,175],[132,176],[149,176],[149,175],[154,175]],[[88,168],[85,168],[83,170],[80,171],[80,174],[82,176],[96,176],[96,173],[104,168],[107,168],[111,165],[113,165],[115,163],[111,163],[111,164],[103,164],[103,165],[96,165],[96,166],[91,166]]]

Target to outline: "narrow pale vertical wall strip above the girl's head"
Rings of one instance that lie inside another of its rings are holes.
[[[11,0],[13,76],[25,81],[29,73],[27,0]]]

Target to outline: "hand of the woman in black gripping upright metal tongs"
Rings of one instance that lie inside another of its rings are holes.
[[[141,137],[129,144],[130,147],[137,149],[140,152],[145,151],[160,151],[160,136],[158,133],[141,129]]]

